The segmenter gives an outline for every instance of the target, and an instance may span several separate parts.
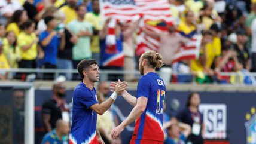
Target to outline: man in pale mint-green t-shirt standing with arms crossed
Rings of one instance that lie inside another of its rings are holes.
[[[92,25],[84,20],[86,7],[78,5],[76,8],[77,19],[68,23],[67,27],[74,35],[78,36],[78,41],[72,48],[72,59],[74,68],[83,59],[90,59],[92,51],[90,49],[91,36],[93,35]]]

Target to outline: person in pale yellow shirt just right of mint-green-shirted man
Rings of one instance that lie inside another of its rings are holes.
[[[92,59],[100,62],[99,31],[103,29],[103,19],[100,14],[99,0],[92,1],[93,11],[86,13],[86,20],[93,26],[91,43]]]

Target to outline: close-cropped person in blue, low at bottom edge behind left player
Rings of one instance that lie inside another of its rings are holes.
[[[45,134],[41,144],[68,144],[69,130],[69,123],[59,119],[56,122],[56,128]]]

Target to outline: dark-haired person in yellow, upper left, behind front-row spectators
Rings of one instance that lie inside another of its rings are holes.
[[[20,33],[20,26],[28,20],[28,15],[25,10],[14,11],[10,22],[7,24],[6,32],[13,31],[16,38]]]

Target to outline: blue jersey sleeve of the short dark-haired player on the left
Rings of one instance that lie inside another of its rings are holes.
[[[94,99],[94,96],[90,91],[78,91],[77,100],[81,103],[81,105],[86,106],[89,109],[92,105],[97,103],[97,100]]]

